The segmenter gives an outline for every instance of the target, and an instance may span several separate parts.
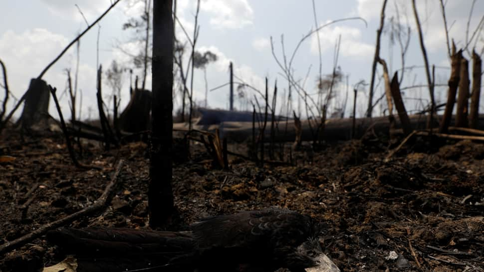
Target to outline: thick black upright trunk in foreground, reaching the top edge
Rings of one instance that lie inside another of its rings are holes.
[[[153,1],[153,99],[148,209],[150,227],[166,225],[173,214],[173,16],[172,0]]]

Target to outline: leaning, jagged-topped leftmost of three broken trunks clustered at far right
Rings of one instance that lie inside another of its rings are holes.
[[[452,111],[454,110],[454,104],[456,103],[457,87],[459,86],[459,80],[461,76],[461,59],[462,50],[456,53],[456,45],[452,45],[451,56],[451,77],[449,78],[449,91],[447,92],[447,104],[444,111],[444,116],[440,123],[439,132],[446,133],[449,128],[449,124],[452,119]]]

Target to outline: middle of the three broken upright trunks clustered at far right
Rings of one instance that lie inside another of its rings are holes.
[[[469,61],[461,60],[461,79],[459,80],[459,94],[457,97],[456,126],[468,127],[469,121]]]

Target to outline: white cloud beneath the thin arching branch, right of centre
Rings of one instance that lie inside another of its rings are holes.
[[[340,54],[347,57],[368,58],[374,53],[374,46],[363,41],[361,30],[347,26],[328,26],[319,31],[321,51],[333,50],[341,34]],[[319,54],[317,35],[311,36],[311,52]]]

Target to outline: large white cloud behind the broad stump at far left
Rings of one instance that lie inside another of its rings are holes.
[[[2,56],[2,60],[7,68],[8,85],[13,95],[20,98],[27,89],[30,79],[37,77],[45,66],[62,51],[67,43],[68,39],[66,37],[42,28],[27,29],[22,33],[16,33],[11,30],[5,31],[0,36],[0,56]],[[48,84],[57,88],[59,98],[65,88],[65,68],[70,68],[71,76],[74,77],[73,52],[74,49],[71,48],[43,76],[43,79]],[[96,83],[93,79],[96,78],[96,70],[81,62],[78,75],[78,89],[83,92],[82,112],[85,117],[88,105],[95,104]],[[69,107],[66,101],[67,96],[64,95],[60,100],[60,104],[65,118],[70,118]],[[80,101],[80,98],[77,101]],[[8,108],[11,109],[12,106],[13,99],[10,99]],[[19,116],[20,112],[21,109],[16,112],[15,116]],[[50,101],[49,112],[57,118],[57,112],[52,100]]]

